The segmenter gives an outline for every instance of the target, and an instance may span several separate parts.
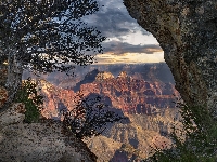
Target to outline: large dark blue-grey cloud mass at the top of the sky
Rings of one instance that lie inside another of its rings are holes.
[[[104,6],[100,8],[100,11],[94,15],[86,16],[84,19],[89,26],[97,27],[103,36],[107,38],[115,37],[122,40],[120,37],[135,33],[136,31],[141,31],[142,35],[150,35],[128,14],[122,0],[110,0],[110,2],[101,0],[99,4]]]

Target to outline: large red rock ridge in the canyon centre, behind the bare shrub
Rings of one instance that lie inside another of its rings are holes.
[[[106,96],[112,106],[129,114],[151,114],[156,108],[174,108],[173,94],[179,96],[171,83],[148,82],[129,77],[126,72],[120,72],[117,78],[81,84],[80,91],[85,95],[97,93]]]

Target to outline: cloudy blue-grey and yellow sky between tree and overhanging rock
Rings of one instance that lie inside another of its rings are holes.
[[[98,0],[100,11],[84,17],[107,39],[102,43],[104,54],[98,54],[98,64],[141,64],[164,60],[164,52],[157,40],[136,19],[129,16],[123,0]]]

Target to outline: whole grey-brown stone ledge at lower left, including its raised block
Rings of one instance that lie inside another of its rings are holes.
[[[63,133],[61,122],[23,123],[24,112],[25,106],[16,103],[0,114],[1,162],[97,161],[84,141]]]

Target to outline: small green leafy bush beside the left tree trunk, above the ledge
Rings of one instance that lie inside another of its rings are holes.
[[[38,95],[37,83],[34,83],[30,78],[23,82],[22,87],[16,94],[15,102],[25,104],[24,122],[38,122],[42,109],[43,96]]]

